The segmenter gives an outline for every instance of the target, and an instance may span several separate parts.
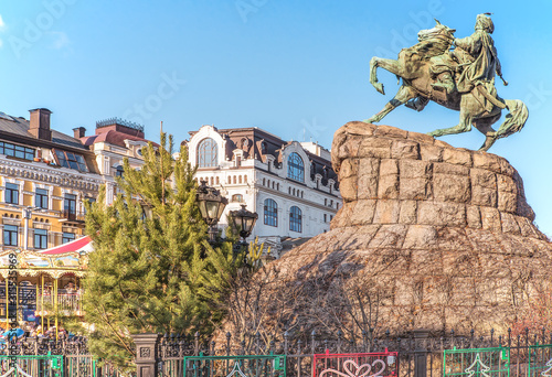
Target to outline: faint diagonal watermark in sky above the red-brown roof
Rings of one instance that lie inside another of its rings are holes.
[[[138,125],[144,125],[146,120],[151,119],[153,114],[161,110],[163,104],[173,98],[187,83],[185,79],[177,77],[177,72],[172,72],[169,76],[166,73],[161,74],[161,80],[157,85],[157,89],[146,96],[142,101],[134,104],[125,112],[123,119],[130,120]]]

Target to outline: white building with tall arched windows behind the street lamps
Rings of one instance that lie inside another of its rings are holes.
[[[221,191],[226,215],[242,204],[258,214],[251,239],[279,250],[283,239],[310,238],[330,229],[341,206],[330,152],[317,143],[286,142],[258,128],[190,132],[190,162],[198,181]]]

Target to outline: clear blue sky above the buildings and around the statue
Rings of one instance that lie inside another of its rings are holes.
[[[369,84],[372,56],[395,57],[433,18],[464,37],[478,13],[493,12],[495,44],[508,99],[523,100],[526,128],[490,152],[520,172],[537,225],[552,236],[552,2],[417,0],[4,0],[0,3],[0,111],[53,111],[72,134],[121,117],[177,142],[202,125],[256,126],[283,139],[330,148],[333,132],[379,111],[399,88],[380,71],[386,95]],[[427,132],[458,112],[431,104],[400,108],[382,123]],[[443,140],[477,149],[477,130]]]

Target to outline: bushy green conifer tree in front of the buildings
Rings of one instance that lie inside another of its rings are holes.
[[[150,143],[142,155],[140,170],[125,161],[113,205],[103,192],[86,215],[94,243],[83,298],[88,345],[121,368],[132,367],[131,334],[208,334],[223,314],[209,303],[225,292],[211,277],[242,262],[230,243],[208,243],[187,149],[173,159],[172,138],[161,133],[160,147]]]

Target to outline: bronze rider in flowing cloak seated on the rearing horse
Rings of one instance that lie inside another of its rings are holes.
[[[490,36],[495,31],[495,25],[488,14],[490,13],[477,15],[474,34],[464,39],[455,39],[456,49],[452,54],[458,61],[459,66],[464,67],[456,82],[458,93],[470,93],[475,87],[481,85],[487,95],[496,98],[495,72],[502,78],[502,69],[495,42]],[[508,83],[505,82],[505,85]],[[447,93],[454,90],[452,79],[442,80],[432,86],[444,88]],[[492,104],[486,100],[486,96],[477,90],[474,90],[474,94],[481,104],[485,104],[488,111],[492,109]]]

